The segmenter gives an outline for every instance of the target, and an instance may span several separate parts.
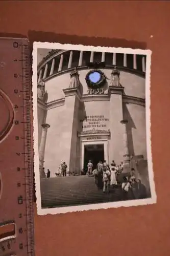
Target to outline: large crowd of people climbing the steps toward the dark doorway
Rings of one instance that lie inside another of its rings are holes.
[[[122,199],[142,199],[147,197],[145,186],[141,184],[141,181],[135,178],[134,168],[131,168],[130,175],[120,175],[124,169],[123,162],[120,165],[116,165],[113,160],[112,163],[107,164],[106,161],[96,165],[93,169],[91,160],[87,164],[87,175],[94,176],[95,184],[99,189],[103,189],[103,193],[110,192],[110,188],[119,187],[122,189]],[[120,177],[122,177],[120,179]]]

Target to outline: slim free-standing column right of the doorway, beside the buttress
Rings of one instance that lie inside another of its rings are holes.
[[[127,123],[128,120],[123,119],[120,121],[123,124],[124,134],[123,134],[123,141],[124,141],[124,173],[130,172],[130,156],[129,156],[129,148],[128,148],[128,135],[127,135]]]

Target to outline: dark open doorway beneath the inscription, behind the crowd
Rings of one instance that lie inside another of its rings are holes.
[[[93,164],[93,169],[96,168],[96,165],[101,160],[102,162],[105,160],[104,158],[104,144],[93,144],[93,145],[85,145],[84,146],[84,172],[87,172],[87,164],[91,160]]]

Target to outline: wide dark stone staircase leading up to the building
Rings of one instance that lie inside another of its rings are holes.
[[[103,193],[94,177],[55,177],[40,181],[42,208],[105,203],[121,200],[119,188]]]

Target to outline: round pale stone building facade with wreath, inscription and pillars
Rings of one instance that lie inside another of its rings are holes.
[[[124,162],[148,186],[144,55],[51,50],[37,67],[42,168],[70,173],[87,162]]]

